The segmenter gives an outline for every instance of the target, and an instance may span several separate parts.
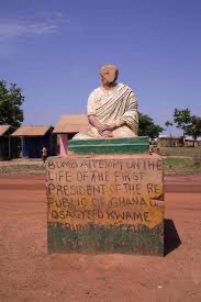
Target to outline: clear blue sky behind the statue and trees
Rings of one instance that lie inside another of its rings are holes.
[[[23,89],[24,124],[85,113],[105,63],[156,123],[201,115],[201,1],[1,1],[0,79]]]

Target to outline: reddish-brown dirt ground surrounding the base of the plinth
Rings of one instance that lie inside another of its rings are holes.
[[[44,177],[0,177],[0,301],[201,301],[201,177],[166,191],[166,257],[48,255]]]

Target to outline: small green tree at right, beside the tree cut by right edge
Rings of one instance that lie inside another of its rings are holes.
[[[187,135],[188,126],[191,124],[191,118],[192,116],[188,108],[183,110],[179,110],[177,108],[175,109],[174,123],[176,123],[176,127],[182,130],[183,136]]]

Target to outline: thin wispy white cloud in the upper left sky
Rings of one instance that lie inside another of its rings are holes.
[[[55,35],[67,25],[69,19],[64,13],[40,11],[32,14],[18,14],[0,20],[0,60],[9,59],[22,47],[24,38]],[[20,43],[19,43],[20,41]],[[35,40],[34,40],[35,41]]]

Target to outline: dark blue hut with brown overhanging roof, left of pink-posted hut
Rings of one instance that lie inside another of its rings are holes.
[[[51,125],[20,126],[12,137],[21,138],[23,158],[42,158],[42,149],[47,149],[47,156],[56,155],[56,135]]]

